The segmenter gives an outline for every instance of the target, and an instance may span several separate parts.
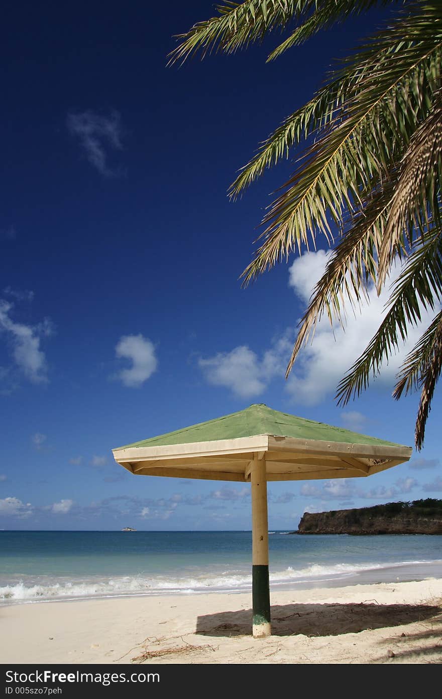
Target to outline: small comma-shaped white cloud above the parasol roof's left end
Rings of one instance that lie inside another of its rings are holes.
[[[142,335],[122,336],[115,347],[115,354],[132,362],[129,369],[122,369],[116,376],[129,388],[141,387],[158,365],[153,343]]]

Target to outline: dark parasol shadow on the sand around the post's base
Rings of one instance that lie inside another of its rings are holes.
[[[433,605],[292,604],[271,607],[273,636],[304,634],[330,636],[358,633],[425,621],[441,610]],[[196,632],[203,636],[243,636],[252,633],[252,610],[206,614],[197,619]]]

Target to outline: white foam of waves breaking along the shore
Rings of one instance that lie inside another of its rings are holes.
[[[348,579],[363,572],[387,570],[389,568],[418,568],[420,565],[442,564],[442,561],[401,561],[399,563],[336,563],[320,565],[312,563],[306,568],[295,569],[292,566],[284,570],[271,571],[272,586],[290,584],[311,584],[326,580]],[[376,575],[373,575],[376,577]],[[219,575],[201,575],[189,577],[143,577],[124,576],[108,579],[88,580],[47,580],[25,584],[0,586],[0,603],[35,603],[46,600],[138,596],[148,594],[192,594],[201,592],[247,591],[252,586],[252,575],[242,571],[224,571]]]

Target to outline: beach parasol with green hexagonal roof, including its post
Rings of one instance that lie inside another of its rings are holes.
[[[267,482],[364,478],[408,461],[411,447],[267,405],[113,449],[135,475],[251,484],[253,635],[271,633]]]

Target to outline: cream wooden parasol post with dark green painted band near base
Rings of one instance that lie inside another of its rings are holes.
[[[253,637],[271,634],[269,589],[269,524],[267,520],[267,478],[264,454],[253,459],[252,487],[252,599]]]

